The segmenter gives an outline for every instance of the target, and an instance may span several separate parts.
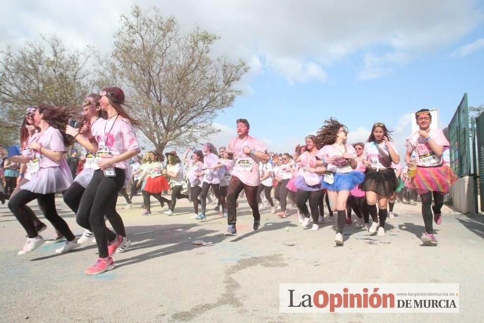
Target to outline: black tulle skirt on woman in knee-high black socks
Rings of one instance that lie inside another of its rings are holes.
[[[375,192],[380,196],[392,196],[398,188],[398,179],[392,168],[376,171],[367,169],[365,171],[365,181],[360,188],[364,191]]]

